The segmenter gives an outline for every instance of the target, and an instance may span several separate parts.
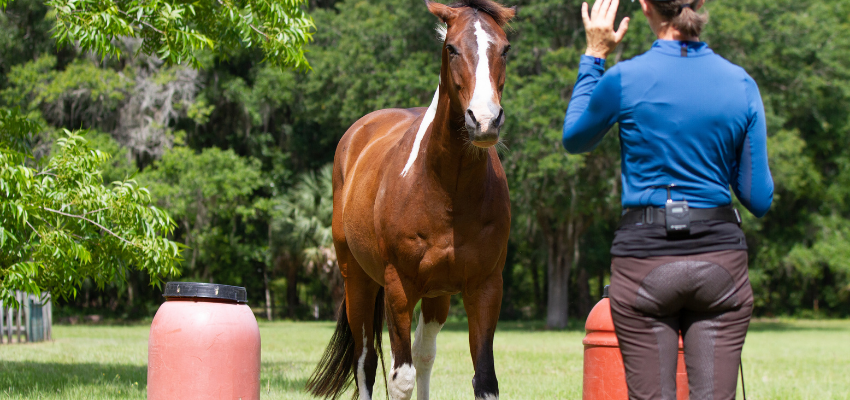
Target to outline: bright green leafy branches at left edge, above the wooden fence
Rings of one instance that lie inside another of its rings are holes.
[[[0,299],[13,290],[73,296],[85,279],[102,286],[127,269],[151,284],[179,272],[174,223],[151,206],[135,181],[103,186],[108,160],[83,134],[65,131],[58,151],[33,167],[29,142],[38,126],[17,109],[0,110]]]

